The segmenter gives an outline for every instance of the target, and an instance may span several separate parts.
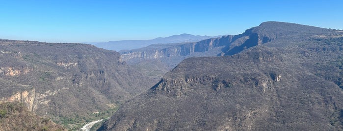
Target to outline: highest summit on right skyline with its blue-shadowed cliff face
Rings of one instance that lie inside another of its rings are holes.
[[[235,41],[223,48],[225,55],[233,55],[244,49],[265,44],[271,41],[301,42],[309,36],[332,34],[330,29],[287,22],[263,22],[257,27],[247,29],[243,34],[235,36]]]

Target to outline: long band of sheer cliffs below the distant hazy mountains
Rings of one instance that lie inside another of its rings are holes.
[[[223,36],[221,38],[212,38],[197,43],[179,43],[179,44],[152,44],[144,48],[121,51],[121,61],[129,64],[138,63],[144,60],[154,59],[172,59],[173,57],[203,56],[197,52],[207,52],[204,56],[215,56],[220,53],[220,47],[229,44],[233,36]],[[218,48],[219,47],[219,48]],[[213,50],[216,49],[216,50]],[[213,50],[211,52],[211,50]],[[183,60],[182,59],[182,60]]]

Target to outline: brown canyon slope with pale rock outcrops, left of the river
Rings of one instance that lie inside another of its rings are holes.
[[[93,45],[0,40],[0,51],[1,101],[56,122],[85,122],[156,84]]]

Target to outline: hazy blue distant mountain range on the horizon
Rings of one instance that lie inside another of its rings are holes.
[[[195,36],[191,34],[180,34],[169,37],[158,37],[152,40],[123,40],[123,41],[109,41],[106,43],[93,43],[95,46],[107,50],[129,50],[141,48],[150,44],[170,44],[170,43],[185,43],[185,42],[198,42],[205,39],[217,38],[221,36]]]

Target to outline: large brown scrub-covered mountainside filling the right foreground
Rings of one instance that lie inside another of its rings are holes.
[[[342,130],[343,33],[261,25],[245,38],[249,49],[185,59],[100,130]]]

